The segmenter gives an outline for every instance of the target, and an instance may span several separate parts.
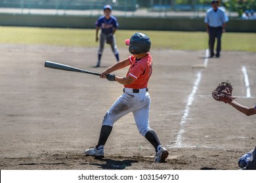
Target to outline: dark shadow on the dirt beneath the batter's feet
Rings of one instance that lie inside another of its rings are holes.
[[[123,161],[117,161],[114,159],[104,159],[104,158],[95,158],[98,159],[100,161],[104,161],[104,163],[82,163],[83,165],[95,165],[95,166],[99,166],[102,169],[125,169],[126,167],[131,167],[132,163],[138,163],[138,161],[136,160],[131,160],[131,159],[127,159],[127,160],[123,160]]]

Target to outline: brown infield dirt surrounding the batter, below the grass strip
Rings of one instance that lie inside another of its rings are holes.
[[[119,51],[121,59],[129,56],[128,50]],[[238,158],[255,147],[255,117],[211,96],[219,82],[229,80],[236,101],[255,105],[255,53],[222,52],[204,68],[194,65],[204,63],[205,50],[152,50],[150,126],[169,151],[166,163],[153,162],[154,148],[137,131],[132,114],[114,125],[104,158],[85,156],[84,150],[98,141],[102,118],[123,86],[98,76],[47,69],[44,63],[98,73],[115,63],[106,47],[102,67],[94,68],[96,52],[97,48],[0,45],[0,169],[238,169]],[[243,65],[251,98],[245,97]],[[115,74],[125,76],[127,69]],[[198,90],[181,124],[199,72]]]

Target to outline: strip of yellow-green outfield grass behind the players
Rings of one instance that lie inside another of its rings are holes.
[[[117,46],[125,47],[135,30],[117,30]],[[204,50],[207,33],[177,31],[141,31],[152,40],[152,49]],[[224,33],[223,50],[256,52],[255,33]],[[39,27],[0,27],[0,44],[49,44],[96,47],[94,29],[56,29]]]

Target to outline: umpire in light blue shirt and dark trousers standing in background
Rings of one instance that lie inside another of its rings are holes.
[[[221,52],[221,35],[225,32],[226,22],[228,22],[228,16],[222,8],[219,7],[219,1],[211,1],[211,7],[206,12],[205,24],[207,33],[209,35],[209,51],[210,58],[216,56],[220,57]],[[214,53],[215,38],[217,38],[216,55]]]

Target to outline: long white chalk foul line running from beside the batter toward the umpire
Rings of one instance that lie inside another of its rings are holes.
[[[205,60],[204,60],[204,63],[203,63],[203,65],[205,67],[207,67],[208,57],[209,57],[209,50],[207,49],[207,50],[205,50]],[[179,133],[177,135],[175,146],[172,146],[173,148],[181,148],[182,147],[182,140],[183,140],[182,135],[184,133],[184,124],[186,124],[186,120],[188,118],[188,114],[189,114],[189,111],[190,111],[190,106],[192,105],[192,103],[194,101],[194,98],[196,96],[196,92],[198,90],[198,86],[199,86],[201,78],[202,78],[202,73],[201,72],[202,71],[198,72],[196,81],[194,82],[192,92],[188,96],[186,107],[185,107],[185,110],[184,110],[184,114],[181,118],[181,123],[180,123],[181,129],[179,130]]]

